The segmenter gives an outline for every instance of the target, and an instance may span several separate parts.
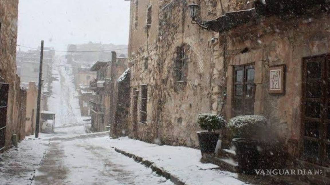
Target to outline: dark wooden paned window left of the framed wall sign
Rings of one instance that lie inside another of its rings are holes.
[[[235,66],[233,116],[253,114],[254,92],[254,67]]]

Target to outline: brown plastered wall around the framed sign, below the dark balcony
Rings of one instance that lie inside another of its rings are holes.
[[[264,115],[274,127],[274,139],[288,145],[291,154],[298,155],[301,142],[302,64],[304,57],[330,53],[330,27],[327,13],[289,17],[261,18],[253,27],[244,25],[228,35],[228,84],[233,89],[233,67],[255,66],[254,114]],[[249,29],[258,30],[250,32]],[[244,48],[248,52],[241,53]],[[285,93],[270,94],[269,67],[285,65]],[[232,91],[228,91],[227,117],[231,117]],[[293,142],[295,141],[295,142]]]

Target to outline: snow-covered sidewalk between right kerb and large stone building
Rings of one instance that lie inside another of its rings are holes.
[[[205,165],[200,162],[202,155],[197,149],[182,146],[160,146],[128,137],[108,138],[107,140],[111,146],[153,162],[153,165],[175,175],[189,185],[246,184],[236,179],[237,173],[217,169],[201,170],[200,167]]]

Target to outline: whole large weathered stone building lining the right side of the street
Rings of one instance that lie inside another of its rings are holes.
[[[197,25],[192,1],[131,1],[128,135],[198,147],[200,113],[263,115],[292,157],[329,166],[328,1],[297,2],[200,0]]]

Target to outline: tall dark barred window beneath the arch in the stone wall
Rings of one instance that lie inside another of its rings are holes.
[[[177,48],[177,59],[175,62],[175,77],[177,81],[184,81],[184,69],[186,65],[185,45]]]

